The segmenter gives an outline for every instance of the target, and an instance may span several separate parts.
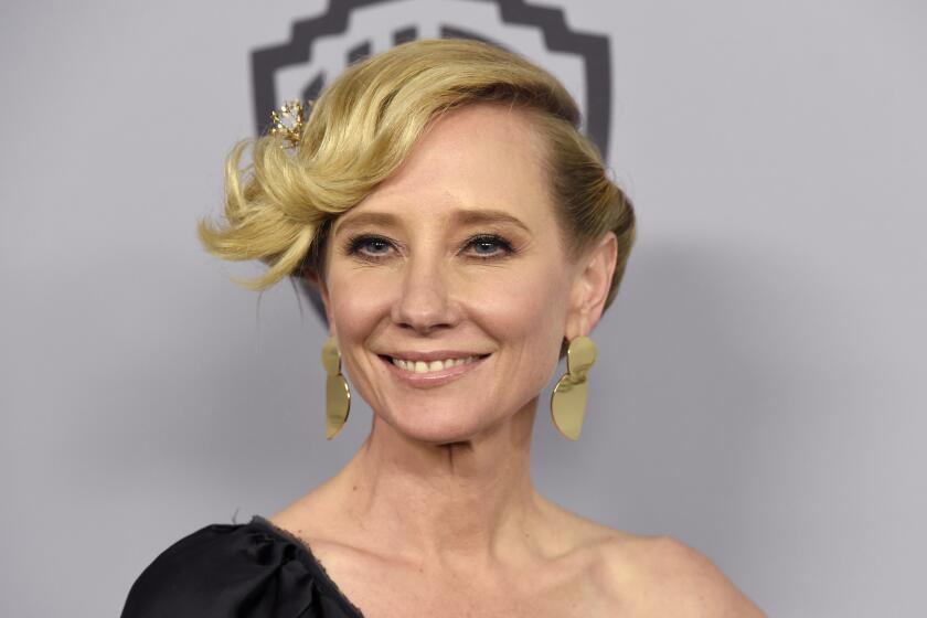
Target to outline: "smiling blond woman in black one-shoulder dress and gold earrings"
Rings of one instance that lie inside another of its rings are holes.
[[[697,552],[531,483],[540,393],[566,352],[552,416],[577,438],[588,335],[635,237],[563,86],[493,46],[419,41],[349,68],[305,124],[288,111],[253,168],[233,152],[227,224],[201,236],[267,263],[256,288],[318,286],[328,435],[349,392],[373,427],[283,512],[168,548],[122,616],[759,616]]]

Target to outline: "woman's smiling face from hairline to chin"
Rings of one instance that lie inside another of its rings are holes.
[[[343,366],[408,437],[466,440],[524,409],[584,328],[542,157],[524,111],[454,110],[331,228]]]

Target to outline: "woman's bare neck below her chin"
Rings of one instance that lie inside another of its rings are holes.
[[[335,478],[345,515],[417,560],[498,555],[522,539],[535,511],[535,406],[449,445],[412,440],[374,417],[370,437]]]

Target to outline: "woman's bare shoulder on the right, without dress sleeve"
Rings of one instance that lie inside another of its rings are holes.
[[[707,556],[672,536],[616,532],[599,552],[608,595],[641,615],[764,616]]]

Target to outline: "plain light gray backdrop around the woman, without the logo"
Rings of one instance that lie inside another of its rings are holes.
[[[612,36],[640,241],[537,484],[770,615],[923,616],[925,4],[544,1]],[[323,438],[311,309],[194,235],[253,131],[249,51],[324,8],[2,4],[0,615],[118,615],[169,544],[362,441],[363,406]]]

